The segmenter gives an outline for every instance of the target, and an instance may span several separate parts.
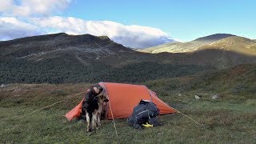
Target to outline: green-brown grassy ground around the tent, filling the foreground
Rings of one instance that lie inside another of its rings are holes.
[[[190,78],[188,78],[190,79]],[[126,119],[113,122],[102,120],[96,134],[86,133],[82,121],[68,122],[63,115],[78,104],[90,84],[10,84],[0,89],[0,142],[1,143],[254,143],[256,142],[256,98],[242,100],[238,95],[224,95],[212,100],[208,97],[197,101],[196,90],[179,93],[178,86],[163,86],[168,80],[146,82],[158,92],[158,97],[175,109],[202,124],[198,126],[182,114],[158,116],[164,125],[135,130]],[[175,82],[178,82],[175,81]],[[186,83],[182,78],[180,85]],[[179,94],[179,95],[178,95]],[[237,99],[238,98],[238,99]],[[54,106],[39,110],[54,102]],[[20,118],[25,114],[24,118]]]

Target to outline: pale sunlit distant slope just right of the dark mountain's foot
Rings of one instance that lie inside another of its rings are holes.
[[[199,47],[210,44],[212,42],[216,42],[222,38],[229,38],[234,36],[233,34],[212,34],[206,37],[197,38],[191,42],[170,42],[167,44],[163,44],[160,46],[154,46],[150,48],[146,48],[144,50],[138,50],[146,53],[185,53],[185,52],[193,52],[198,50]]]

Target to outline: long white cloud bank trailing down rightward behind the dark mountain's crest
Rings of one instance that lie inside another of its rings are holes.
[[[48,33],[106,35],[114,42],[134,48],[146,48],[174,41],[162,30],[148,26],[125,26],[118,22],[85,21],[80,18],[58,16],[32,18],[31,21],[34,25],[43,27]]]

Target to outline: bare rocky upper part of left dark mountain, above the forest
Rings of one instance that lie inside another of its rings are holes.
[[[132,50],[111,41],[106,36],[68,35],[65,33],[0,42],[0,50],[0,57],[27,58],[36,61],[61,57],[62,54],[72,54],[78,60],[82,60],[80,56],[101,58],[124,51],[132,52]]]

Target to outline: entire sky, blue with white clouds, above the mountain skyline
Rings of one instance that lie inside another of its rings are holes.
[[[146,48],[218,33],[256,39],[255,6],[254,0],[1,0],[0,40],[65,32]]]

